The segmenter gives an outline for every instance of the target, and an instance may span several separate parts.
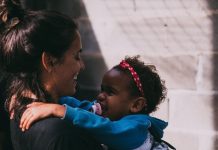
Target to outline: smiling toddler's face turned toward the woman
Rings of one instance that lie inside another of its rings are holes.
[[[102,116],[118,120],[130,114],[133,104],[129,91],[130,78],[116,69],[109,70],[103,77],[98,102],[102,107]]]

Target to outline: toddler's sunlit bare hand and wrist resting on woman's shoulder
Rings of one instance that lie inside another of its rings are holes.
[[[22,131],[28,130],[33,122],[50,116],[61,118],[64,116],[65,109],[64,106],[58,104],[33,102],[27,105],[20,120],[20,128]]]

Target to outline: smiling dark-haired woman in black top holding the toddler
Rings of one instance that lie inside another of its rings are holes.
[[[49,118],[22,132],[19,121],[31,102],[57,103],[73,95],[84,68],[76,24],[51,11],[26,11],[17,0],[0,5],[0,63],[9,74],[6,107],[11,118],[15,150],[101,149],[86,133],[73,125]]]

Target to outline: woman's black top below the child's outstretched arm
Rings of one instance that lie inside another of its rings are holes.
[[[11,120],[11,138],[15,150],[102,150],[85,131],[59,118],[38,121],[25,132]]]

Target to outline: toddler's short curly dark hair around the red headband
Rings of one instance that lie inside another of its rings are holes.
[[[147,106],[141,111],[141,113],[150,114],[155,111],[157,109],[157,105],[166,98],[167,89],[165,87],[165,82],[161,80],[156,67],[140,61],[139,56],[126,57],[124,60],[135,70],[142,84]],[[142,96],[128,69],[123,68],[120,65],[114,66],[114,69],[126,73],[131,78],[129,84],[131,96]]]

